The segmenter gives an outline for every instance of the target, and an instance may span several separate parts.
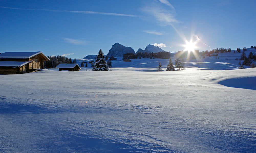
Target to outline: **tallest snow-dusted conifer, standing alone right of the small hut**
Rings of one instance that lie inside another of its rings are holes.
[[[99,50],[97,59],[94,62],[93,71],[108,71],[108,65],[101,49]]]

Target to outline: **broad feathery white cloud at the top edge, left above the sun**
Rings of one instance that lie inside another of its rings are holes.
[[[163,3],[164,2],[164,3]],[[168,2],[168,1],[167,1]],[[175,19],[175,9],[174,7],[166,8],[163,4],[168,4],[166,1],[161,3],[153,2],[145,7],[142,10],[153,16],[160,25],[171,25],[172,23],[178,23],[179,21]]]

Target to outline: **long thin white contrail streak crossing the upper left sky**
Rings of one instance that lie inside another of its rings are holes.
[[[42,10],[42,11],[51,11],[51,12],[68,12],[68,13],[79,13],[79,14],[100,14],[100,15],[112,15],[112,16],[138,17],[136,15],[131,15],[131,14],[95,12],[95,11],[70,11],[70,10],[37,9],[37,8],[13,8],[13,7],[4,7],[4,6],[0,6],[0,8],[17,9],[17,10]]]

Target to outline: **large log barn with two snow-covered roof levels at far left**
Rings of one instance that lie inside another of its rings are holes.
[[[5,52],[0,54],[0,74],[22,74],[44,68],[50,61],[42,52]]]

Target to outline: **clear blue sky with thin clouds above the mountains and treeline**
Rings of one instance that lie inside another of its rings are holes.
[[[118,42],[135,52],[198,41],[199,51],[256,45],[256,1],[0,0],[0,52],[83,58]]]

